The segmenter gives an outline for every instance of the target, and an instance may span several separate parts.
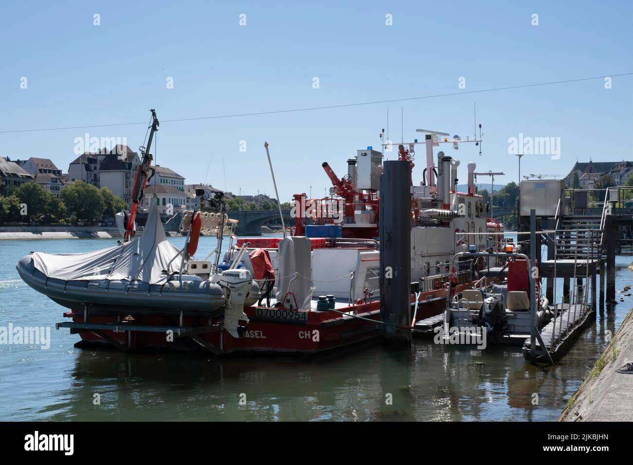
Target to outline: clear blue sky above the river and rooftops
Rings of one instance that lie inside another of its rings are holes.
[[[101,25],[93,25],[93,15]],[[246,14],[246,26],[239,15]],[[385,25],[391,13],[393,25]],[[532,26],[531,16],[539,15]],[[508,138],[560,137],[561,158],[525,156],[522,174],[566,175],[576,159],[633,159],[633,78],[500,90],[350,108],[167,122],[179,118],[329,106],[605,76],[633,71],[632,2],[11,2],[0,6],[0,131],[161,123],[157,161],[187,183],[274,195],[268,140],[282,201],[330,187],[356,149],[378,147],[389,108],[390,139],[416,128],[473,133],[451,155],[478,171],[517,180]],[[20,89],[27,77],[28,89]],[[174,88],[166,89],[173,77]],[[313,77],[320,88],[313,89]],[[51,158],[64,171],[75,137],[127,137],[144,125],[0,133],[0,156]],[[239,151],[246,140],[246,152]],[[423,150],[417,175],[422,177]],[[482,180],[483,181],[483,180]]]

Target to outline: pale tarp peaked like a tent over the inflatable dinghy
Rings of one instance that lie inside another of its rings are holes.
[[[123,245],[80,254],[34,252],[33,261],[37,270],[60,280],[139,280],[163,284],[169,275],[179,271],[181,259],[176,258],[179,255],[179,249],[167,241],[154,195],[141,237]]]

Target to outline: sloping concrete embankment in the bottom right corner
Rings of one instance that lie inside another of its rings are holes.
[[[633,310],[572,395],[558,421],[631,421],[633,373],[616,373],[633,363]]]

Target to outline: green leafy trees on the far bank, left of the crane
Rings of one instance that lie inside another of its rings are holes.
[[[77,181],[61,189],[57,197],[29,181],[5,187],[0,195],[0,223],[93,225],[127,208],[127,202],[107,187],[98,189]]]

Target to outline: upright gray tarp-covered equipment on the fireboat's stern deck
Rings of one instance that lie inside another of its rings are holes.
[[[309,309],[312,290],[312,242],[307,237],[289,236],[279,242],[277,261],[279,279],[277,280],[277,300],[284,299],[287,292],[297,298],[299,309]],[[294,303],[292,299],[290,302]]]

